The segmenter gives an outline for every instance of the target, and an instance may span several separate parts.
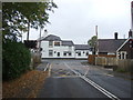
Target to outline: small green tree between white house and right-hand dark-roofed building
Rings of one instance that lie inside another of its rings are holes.
[[[96,42],[98,42],[98,37],[96,37],[96,36],[93,36],[93,37],[88,41],[88,43],[92,47],[92,52],[93,52],[93,54],[95,54],[95,52],[96,52]]]

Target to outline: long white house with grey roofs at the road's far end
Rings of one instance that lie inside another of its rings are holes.
[[[74,44],[71,40],[49,34],[41,38],[41,58],[76,58],[86,59],[90,51],[88,44]]]

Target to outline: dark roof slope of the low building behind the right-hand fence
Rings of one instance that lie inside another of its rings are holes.
[[[116,52],[126,39],[99,39],[98,49],[99,52]]]

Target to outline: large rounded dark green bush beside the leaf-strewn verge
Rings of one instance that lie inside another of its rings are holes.
[[[30,69],[30,51],[21,42],[7,41],[2,44],[2,79],[20,77]]]

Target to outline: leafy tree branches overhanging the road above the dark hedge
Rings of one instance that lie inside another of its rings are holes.
[[[58,8],[52,1],[47,2],[3,2],[2,3],[2,36],[17,40],[20,31],[28,31],[30,28],[43,28],[49,21],[48,11],[53,12]]]

